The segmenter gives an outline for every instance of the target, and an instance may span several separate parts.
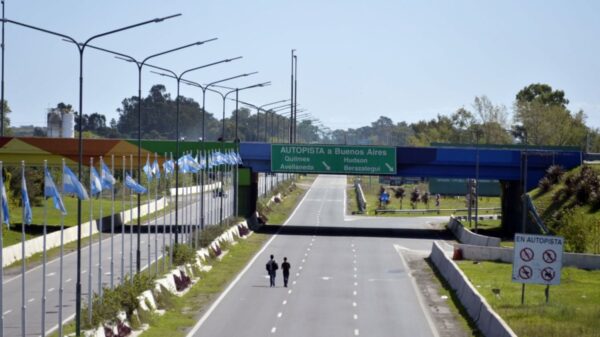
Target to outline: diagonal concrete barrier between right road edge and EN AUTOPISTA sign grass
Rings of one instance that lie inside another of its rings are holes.
[[[506,322],[496,314],[485,298],[473,287],[462,270],[444,254],[444,251],[437,242],[433,243],[429,257],[442,277],[448,282],[450,288],[456,293],[458,300],[462,303],[469,317],[471,317],[477,328],[485,336],[517,336]]]

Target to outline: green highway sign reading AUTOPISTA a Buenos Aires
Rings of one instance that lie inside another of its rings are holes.
[[[389,146],[271,145],[272,172],[396,174],[396,148]]]

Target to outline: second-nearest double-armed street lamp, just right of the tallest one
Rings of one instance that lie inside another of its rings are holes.
[[[129,55],[126,54],[122,54],[119,52],[115,52],[115,51],[111,51],[108,49],[104,49],[104,48],[100,48],[100,47],[95,47],[95,46],[89,46],[90,48],[93,49],[97,49],[100,51],[104,51],[110,54],[114,54],[117,55],[119,59],[122,59],[124,61],[128,61],[128,62],[132,62],[133,64],[136,65],[137,69],[138,69],[138,156],[137,156],[137,171],[138,171],[138,180],[141,181],[141,176],[142,176],[142,68],[147,65],[146,62],[148,62],[150,59],[153,59],[155,57],[158,56],[162,56],[165,54],[169,54],[169,53],[173,53],[176,52],[178,50],[181,49],[185,49],[185,48],[189,48],[189,47],[193,47],[193,46],[199,46],[202,45],[204,43],[207,42],[211,42],[211,41],[215,41],[217,40],[217,38],[212,38],[209,40],[205,40],[205,41],[198,41],[198,42],[194,42],[194,43],[190,43],[184,46],[180,46],[177,48],[173,48],[173,49],[169,49],[160,53],[156,53],[156,54],[152,54],[146,58],[144,58],[141,61],[138,61],[137,59],[135,59],[134,57],[131,57]],[[148,65],[151,66],[151,65]],[[136,273],[139,273],[141,270],[141,250],[140,250],[140,246],[141,246],[141,198],[140,196],[138,196],[137,198],[137,250],[136,250],[136,256],[135,256],[135,270]],[[177,217],[177,215],[175,216]],[[176,236],[177,237],[177,236]],[[177,242],[177,239],[176,241]],[[148,246],[150,246],[150,243],[148,242]],[[148,263],[150,263],[150,261],[148,261]]]

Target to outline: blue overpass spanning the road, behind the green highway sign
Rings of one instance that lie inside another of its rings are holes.
[[[297,172],[281,170],[281,156],[274,149],[281,151],[282,147],[324,147],[327,148],[356,148],[343,145],[298,145],[281,144],[279,147],[268,143],[241,143],[240,154],[244,166],[253,174],[257,172]],[[382,147],[362,147],[364,149]],[[385,147],[383,147],[385,148]],[[560,165],[566,170],[577,167],[583,162],[583,153],[575,150],[548,148],[489,148],[489,147],[391,147],[390,160],[395,165],[393,172],[382,169],[381,173],[369,175],[395,175],[404,177],[432,178],[465,178],[499,180],[502,189],[502,226],[505,230],[515,232],[520,228],[523,186],[527,190],[535,188],[545,171],[551,165]],[[297,150],[296,153],[310,151]],[[314,152],[314,151],[313,151]],[[335,153],[335,151],[333,151]],[[310,157],[312,154],[307,154]],[[333,155],[335,156],[335,155]],[[341,155],[342,157],[346,155]],[[346,156],[347,157],[347,156]],[[352,156],[351,156],[352,157]],[[355,156],[356,157],[356,156]],[[323,157],[321,157],[322,159]],[[360,156],[353,162],[360,162]],[[310,159],[309,159],[310,160]],[[319,159],[320,160],[320,159]],[[332,159],[334,160],[334,159]],[[276,163],[275,163],[276,162]],[[309,161],[307,161],[309,162]],[[285,166],[284,166],[285,167]],[[314,165],[314,173],[331,174],[327,167]],[[376,169],[370,172],[375,172]],[[336,171],[336,173],[344,173]],[[347,172],[348,174],[361,174]],[[253,179],[255,181],[255,179]]]

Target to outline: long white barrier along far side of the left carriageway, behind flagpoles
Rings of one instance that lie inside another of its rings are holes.
[[[157,210],[163,209],[168,205],[168,201],[165,198],[158,199],[156,205],[154,202],[150,203],[150,207],[144,204],[140,207],[140,215],[145,216],[148,213],[153,213]],[[115,214],[115,227],[121,226],[123,223],[137,219],[137,207],[124,210],[120,213]],[[100,228],[100,220],[96,219],[92,222],[85,222],[81,224],[81,237],[86,238],[90,234],[90,226],[92,226],[92,235],[98,233]],[[110,227],[110,215],[102,219],[102,227]],[[52,249],[60,246],[60,235],[61,231],[56,231],[46,235],[46,248]],[[67,244],[77,240],[77,226],[71,226],[63,230],[63,240]],[[11,265],[22,259],[21,254],[21,243],[8,246],[2,249],[3,264],[2,267]],[[25,241],[25,257],[30,257],[36,253],[40,253],[44,248],[44,237],[38,236],[36,238]]]

